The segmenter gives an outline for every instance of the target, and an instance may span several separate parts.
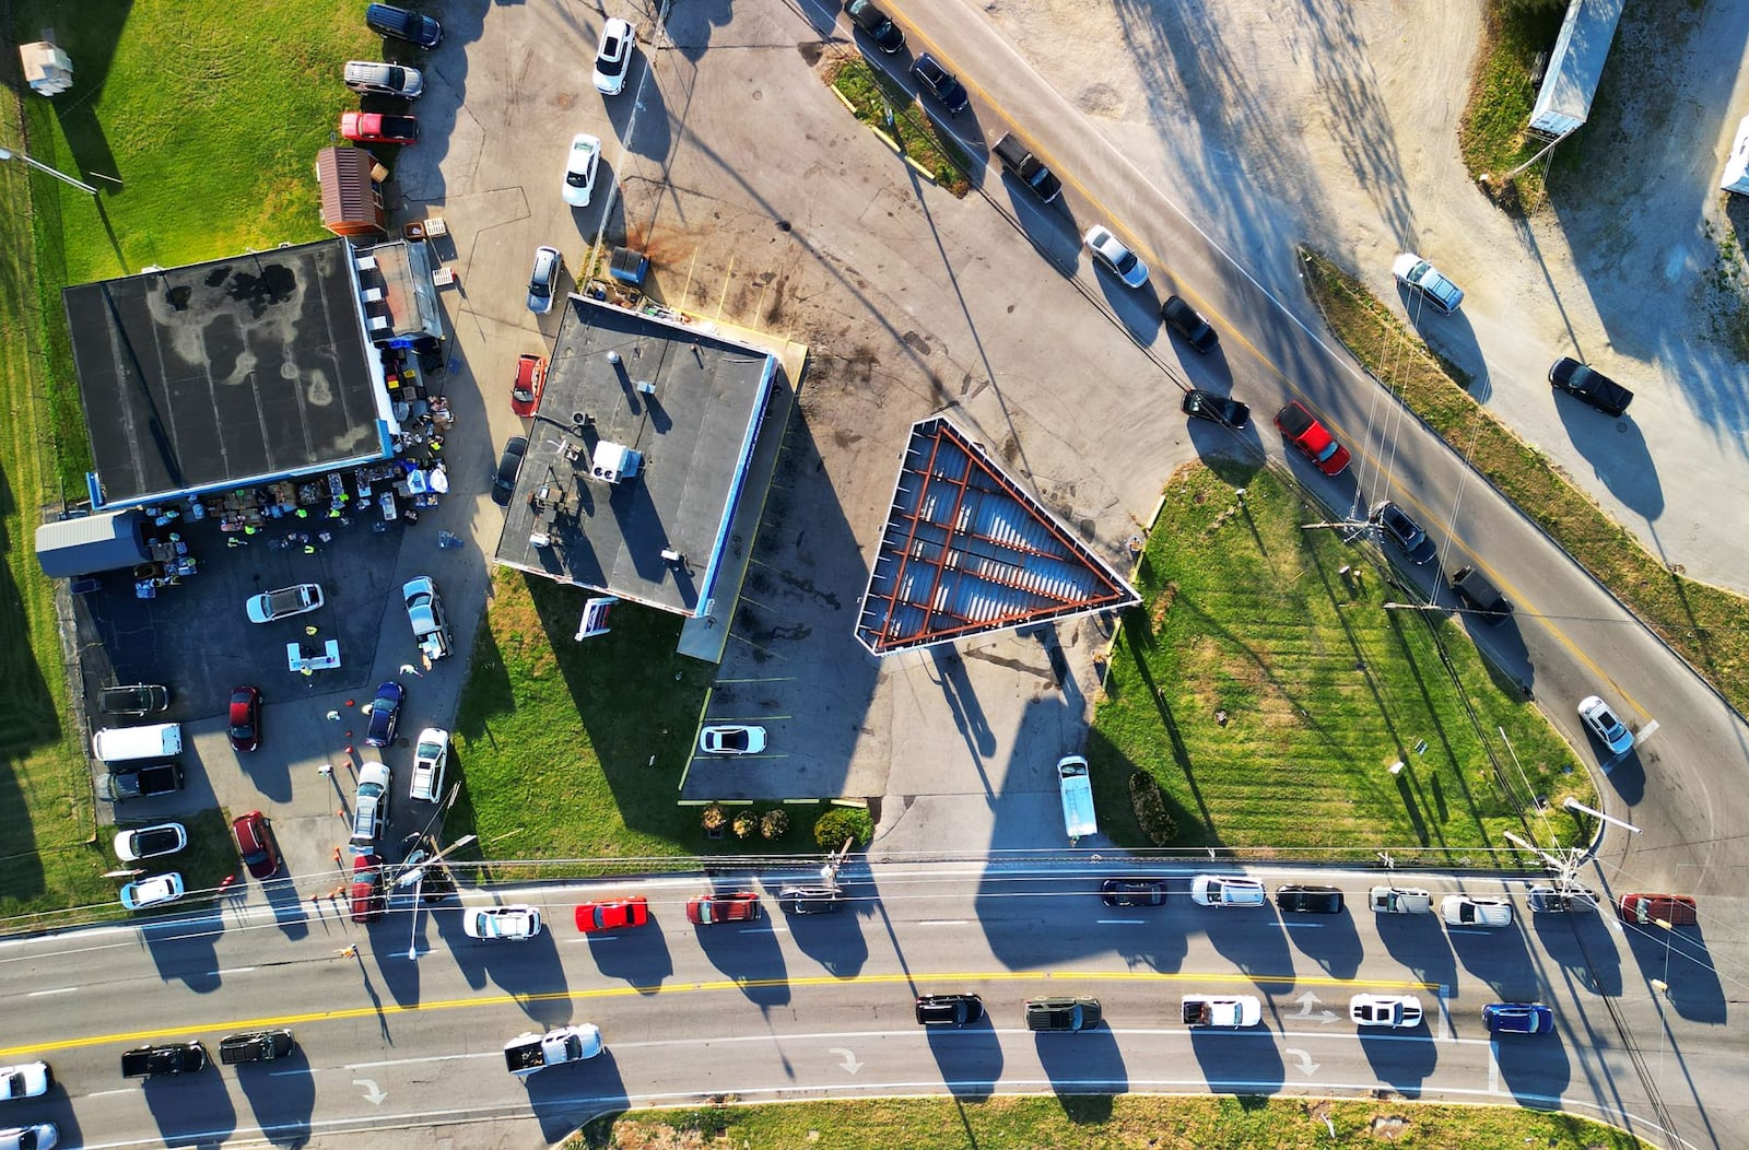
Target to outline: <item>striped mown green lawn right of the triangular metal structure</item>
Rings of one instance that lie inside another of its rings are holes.
[[[1126,615],[1088,743],[1102,828],[1142,844],[1126,790],[1140,769],[1160,779],[1177,846],[1368,856],[1378,846],[1506,846],[1501,832],[1527,825],[1483,745],[1511,766],[1495,727],[1529,776],[1527,788],[1509,771],[1520,802],[1532,792],[1557,806],[1569,793],[1595,802],[1583,771],[1564,774],[1574,762],[1565,743],[1457,626],[1383,610],[1411,596],[1385,584],[1389,568],[1368,565],[1378,552],[1300,526],[1324,517],[1251,463],[1174,475],[1137,577],[1144,605]],[[1345,565],[1357,580],[1343,578]],[[1397,760],[1408,766],[1392,776]],[[1569,814],[1550,827],[1562,842],[1583,841]]]

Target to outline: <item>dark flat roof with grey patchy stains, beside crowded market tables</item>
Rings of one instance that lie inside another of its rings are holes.
[[[82,283],[61,304],[103,503],[388,453],[345,239]]]

